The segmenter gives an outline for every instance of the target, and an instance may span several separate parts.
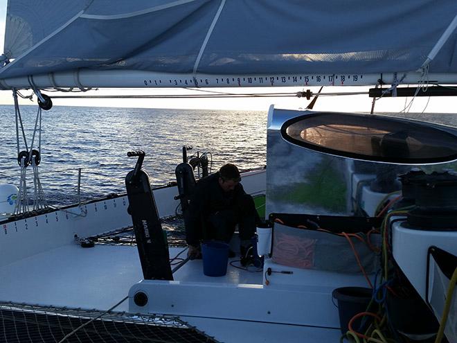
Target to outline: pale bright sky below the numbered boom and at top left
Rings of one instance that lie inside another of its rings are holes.
[[[0,50],[3,52],[3,40],[5,35],[7,0],[0,0]],[[317,87],[266,87],[266,88],[243,88],[243,89],[210,89],[211,91],[227,91],[230,93],[242,92],[294,92],[311,89],[317,92]],[[367,87],[324,87],[324,92],[341,91],[368,91]],[[119,95],[119,94],[201,94],[201,91],[192,92],[187,89],[100,89],[88,91],[85,95]],[[30,91],[24,91],[30,94]],[[57,94],[57,93],[55,93]],[[361,96],[321,96],[317,100],[314,109],[326,111],[346,112],[370,112],[372,98],[368,95]],[[382,98],[377,100],[375,110],[378,112],[400,112],[409,105],[411,98]],[[21,100],[24,105],[31,105],[30,100]],[[145,107],[145,108],[188,108],[188,109],[247,109],[267,111],[269,105],[274,104],[280,108],[305,108],[310,100],[305,98],[212,98],[212,99],[54,99],[54,105],[68,106],[105,106],[105,107]],[[0,105],[11,105],[11,91],[0,91]],[[416,98],[409,112],[456,112],[453,98]]]

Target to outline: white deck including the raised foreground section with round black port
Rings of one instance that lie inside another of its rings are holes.
[[[180,222],[169,219],[163,227],[168,232],[170,258],[181,252],[179,257],[186,257]],[[230,262],[239,265],[238,260],[236,256]],[[1,266],[0,301],[104,311],[127,297],[132,286],[145,285],[152,287],[149,290],[157,307],[152,311],[133,308],[134,313],[179,316],[222,342],[241,342],[244,335],[255,332],[262,335],[250,335],[251,342],[277,342],[284,337],[289,337],[290,342],[303,342],[303,337],[308,337],[306,342],[339,338],[337,313],[329,294],[340,284],[358,283],[352,277],[333,280],[309,271],[307,276],[311,277],[306,278],[306,285],[289,285],[283,292],[281,278],[287,276],[275,274],[272,286],[265,288],[263,272],[249,272],[233,265],[228,265],[225,276],[210,277],[203,274],[201,260],[188,261],[174,273],[172,285],[166,281],[138,283],[143,274],[137,248],[132,231],[123,229],[97,236],[94,247],[66,244]],[[320,305],[315,307],[314,303]],[[310,312],[309,306],[314,310]],[[132,299],[114,310],[132,311]]]

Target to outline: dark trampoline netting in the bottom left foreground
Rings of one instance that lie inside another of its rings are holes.
[[[0,341],[6,343],[217,342],[177,317],[162,315],[0,303],[0,319]]]

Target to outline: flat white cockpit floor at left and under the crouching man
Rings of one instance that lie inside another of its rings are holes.
[[[183,249],[170,247],[170,258]],[[181,256],[185,258],[186,252]],[[74,244],[0,267],[0,279],[0,301],[107,310],[126,297],[129,288],[143,279],[143,274],[135,246],[83,248]],[[260,284],[262,273],[228,265],[226,276],[204,276],[202,261],[194,260],[183,265],[174,274],[174,279],[181,282]],[[127,311],[128,301],[116,310]]]

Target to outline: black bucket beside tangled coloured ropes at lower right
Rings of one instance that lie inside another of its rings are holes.
[[[342,287],[333,290],[332,298],[338,301],[339,325],[341,333],[348,331],[348,324],[357,313],[365,312],[370,304],[372,290],[364,287]],[[354,330],[360,326],[361,318],[352,325]]]

